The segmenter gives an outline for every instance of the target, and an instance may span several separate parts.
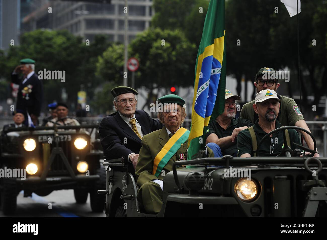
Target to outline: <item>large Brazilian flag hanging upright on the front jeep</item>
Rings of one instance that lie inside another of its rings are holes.
[[[211,0],[195,65],[188,160],[204,149],[207,126],[225,109],[225,0]]]

